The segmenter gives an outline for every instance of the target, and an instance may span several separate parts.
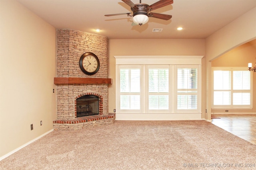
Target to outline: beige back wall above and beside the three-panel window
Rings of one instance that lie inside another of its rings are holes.
[[[122,55],[190,55],[204,56],[204,39],[110,39],[109,43],[109,78],[113,83],[109,85],[109,112],[116,109],[116,61],[114,56]],[[204,59],[202,59],[204,63]],[[204,66],[202,66],[204,70]],[[204,73],[202,75],[204,82]],[[204,93],[204,87],[203,87]],[[204,101],[204,99],[202,99]],[[204,102],[203,102],[204,103]],[[204,104],[203,104],[204,106]],[[202,108],[204,110],[204,107]]]

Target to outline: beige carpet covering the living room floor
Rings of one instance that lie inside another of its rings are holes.
[[[79,131],[53,131],[0,161],[1,170],[252,170],[255,166],[256,145],[207,121],[115,121]]]

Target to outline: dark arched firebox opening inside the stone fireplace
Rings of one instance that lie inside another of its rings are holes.
[[[76,117],[98,115],[99,97],[84,95],[76,99]]]

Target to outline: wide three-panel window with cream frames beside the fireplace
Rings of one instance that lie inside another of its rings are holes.
[[[117,57],[117,113],[201,113],[201,65],[166,64],[172,62],[163,58]]]

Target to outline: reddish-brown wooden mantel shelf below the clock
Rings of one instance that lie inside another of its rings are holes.
[[[112,78],[54,77],[54,84],[112,84]]]

